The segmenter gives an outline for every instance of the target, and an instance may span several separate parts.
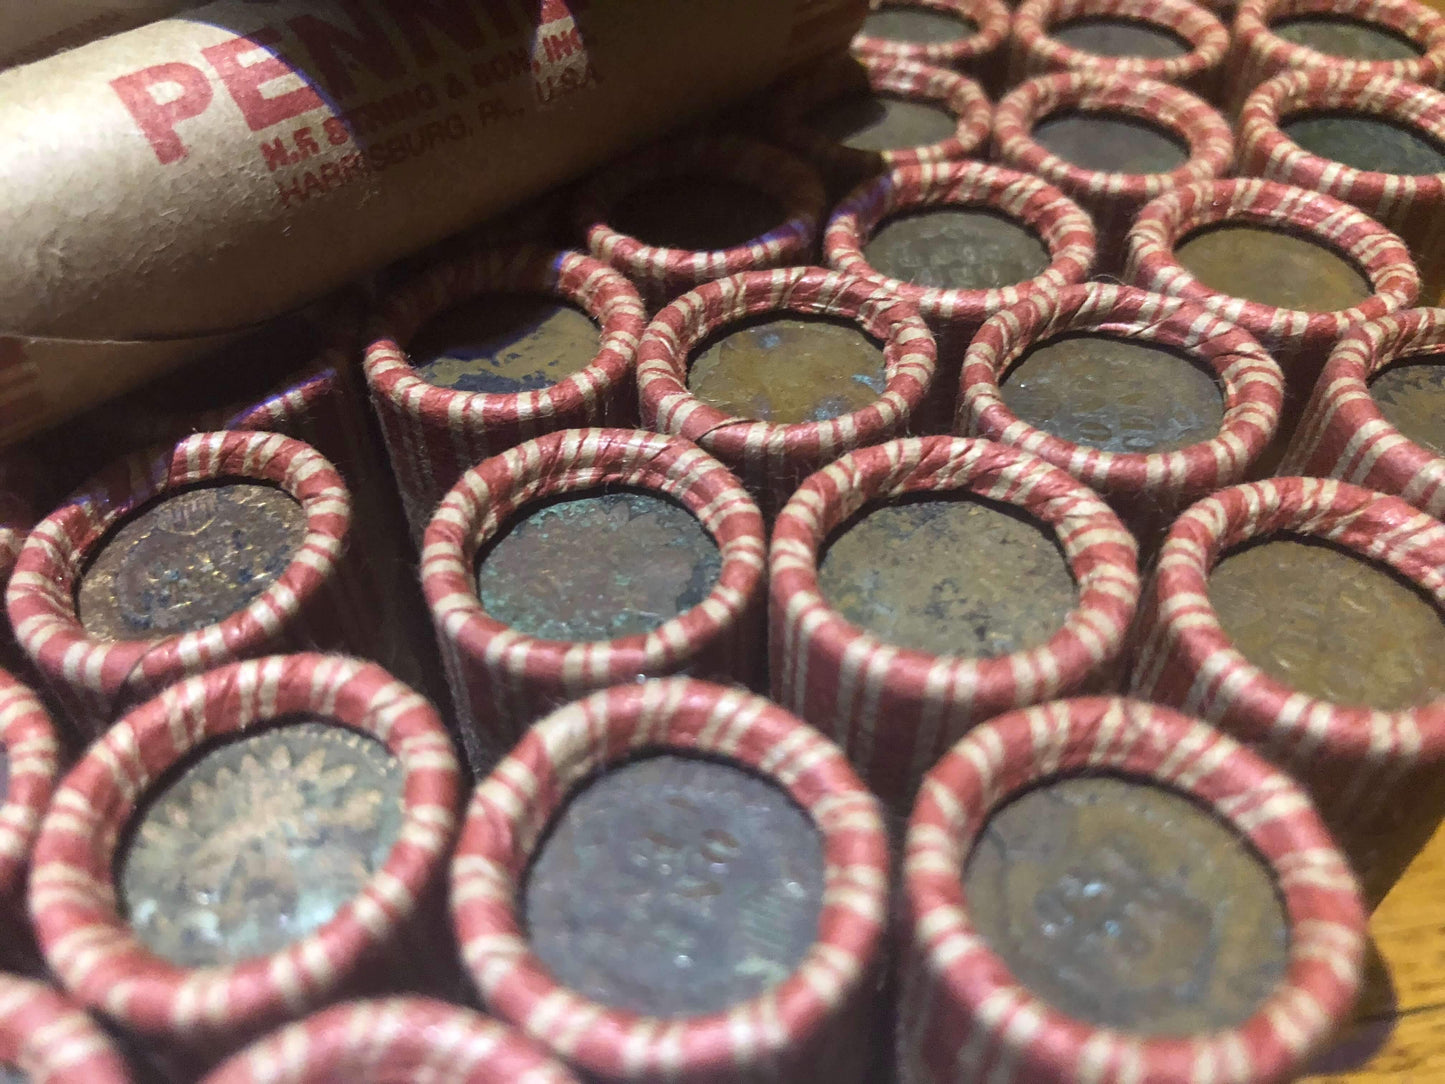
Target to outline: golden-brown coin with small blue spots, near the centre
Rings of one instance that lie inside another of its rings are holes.
[[[709,343],[688,367],[688,389],[724,413],[775,425],[825,422],[877,400],[883,348],[851,324],[767,318]]]

